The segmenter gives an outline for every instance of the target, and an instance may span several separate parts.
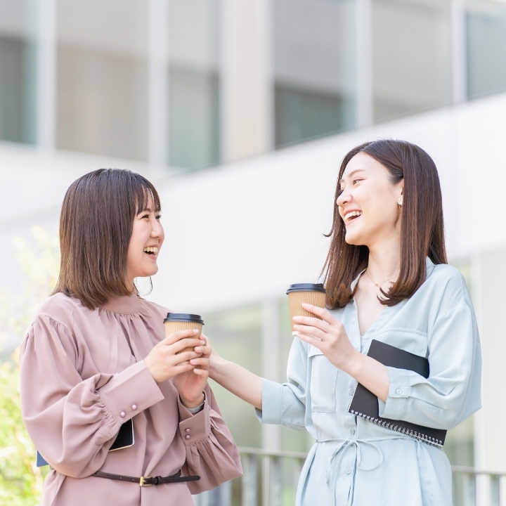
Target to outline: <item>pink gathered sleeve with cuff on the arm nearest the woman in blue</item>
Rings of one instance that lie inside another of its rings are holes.
[[[238,476],[242,467],[238,447],[221,416],[209,385],[205,388],[204,408],[195,415],[179,403],[179,434],[186,446],[183,476],[200,476],[188,481],[190,493],[211,490]]]

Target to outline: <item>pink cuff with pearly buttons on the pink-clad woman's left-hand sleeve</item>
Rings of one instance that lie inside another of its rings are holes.
[[[114,375],[98,389],[98,395],[119,424],[164,399],[143,361]]]

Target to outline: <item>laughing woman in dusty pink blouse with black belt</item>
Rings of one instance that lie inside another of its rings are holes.
[[[142,176],[100,169],[67,190],[60,278],[20,355],[23,420],[51,465],[44,506],[193,505],[190,493],[242,474],[207,385],[209,347],[193,330],[166,338],[167,308],[138,297],[163,240]],[[134,444],[110,451],[129,420]]]

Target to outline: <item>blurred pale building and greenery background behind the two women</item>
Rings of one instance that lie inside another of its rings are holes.
[[[505,504],[506,1],[0,0],[0,502],[37,504],[42,483],[15,350],[58,274],[74,179],[153,181],[167,235],[141,292],[283,381],[285,291],[318,280],[339,164],[376,138],[439,169],[484,351],[484,408],[445,445],[455,505]],[[214,387],[246,476],[195,501],[292,505],[309,437]]]

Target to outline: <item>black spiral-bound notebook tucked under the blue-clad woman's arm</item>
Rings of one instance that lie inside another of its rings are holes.
[[[375,360],[388,367],[412,370],[424,378],[429,377],[429,361],[427,358],[413,355],[413,353],[377,341],[376,339],[372,339],[371,341],[368,356],[375,358]],[[402,434],[407,434],[425,443],[434,446],[443,446],[444,444],[446,430],[432,429],[431,427],[403,422],[403,420],[381,418],[377,396],[372,394],[371,391],[363,387],[360,383],[357,384],[348,411],[352,415],[362,417],[368,422],[381,425],[381,427],[385,427],[386,429],[401,432]]]

